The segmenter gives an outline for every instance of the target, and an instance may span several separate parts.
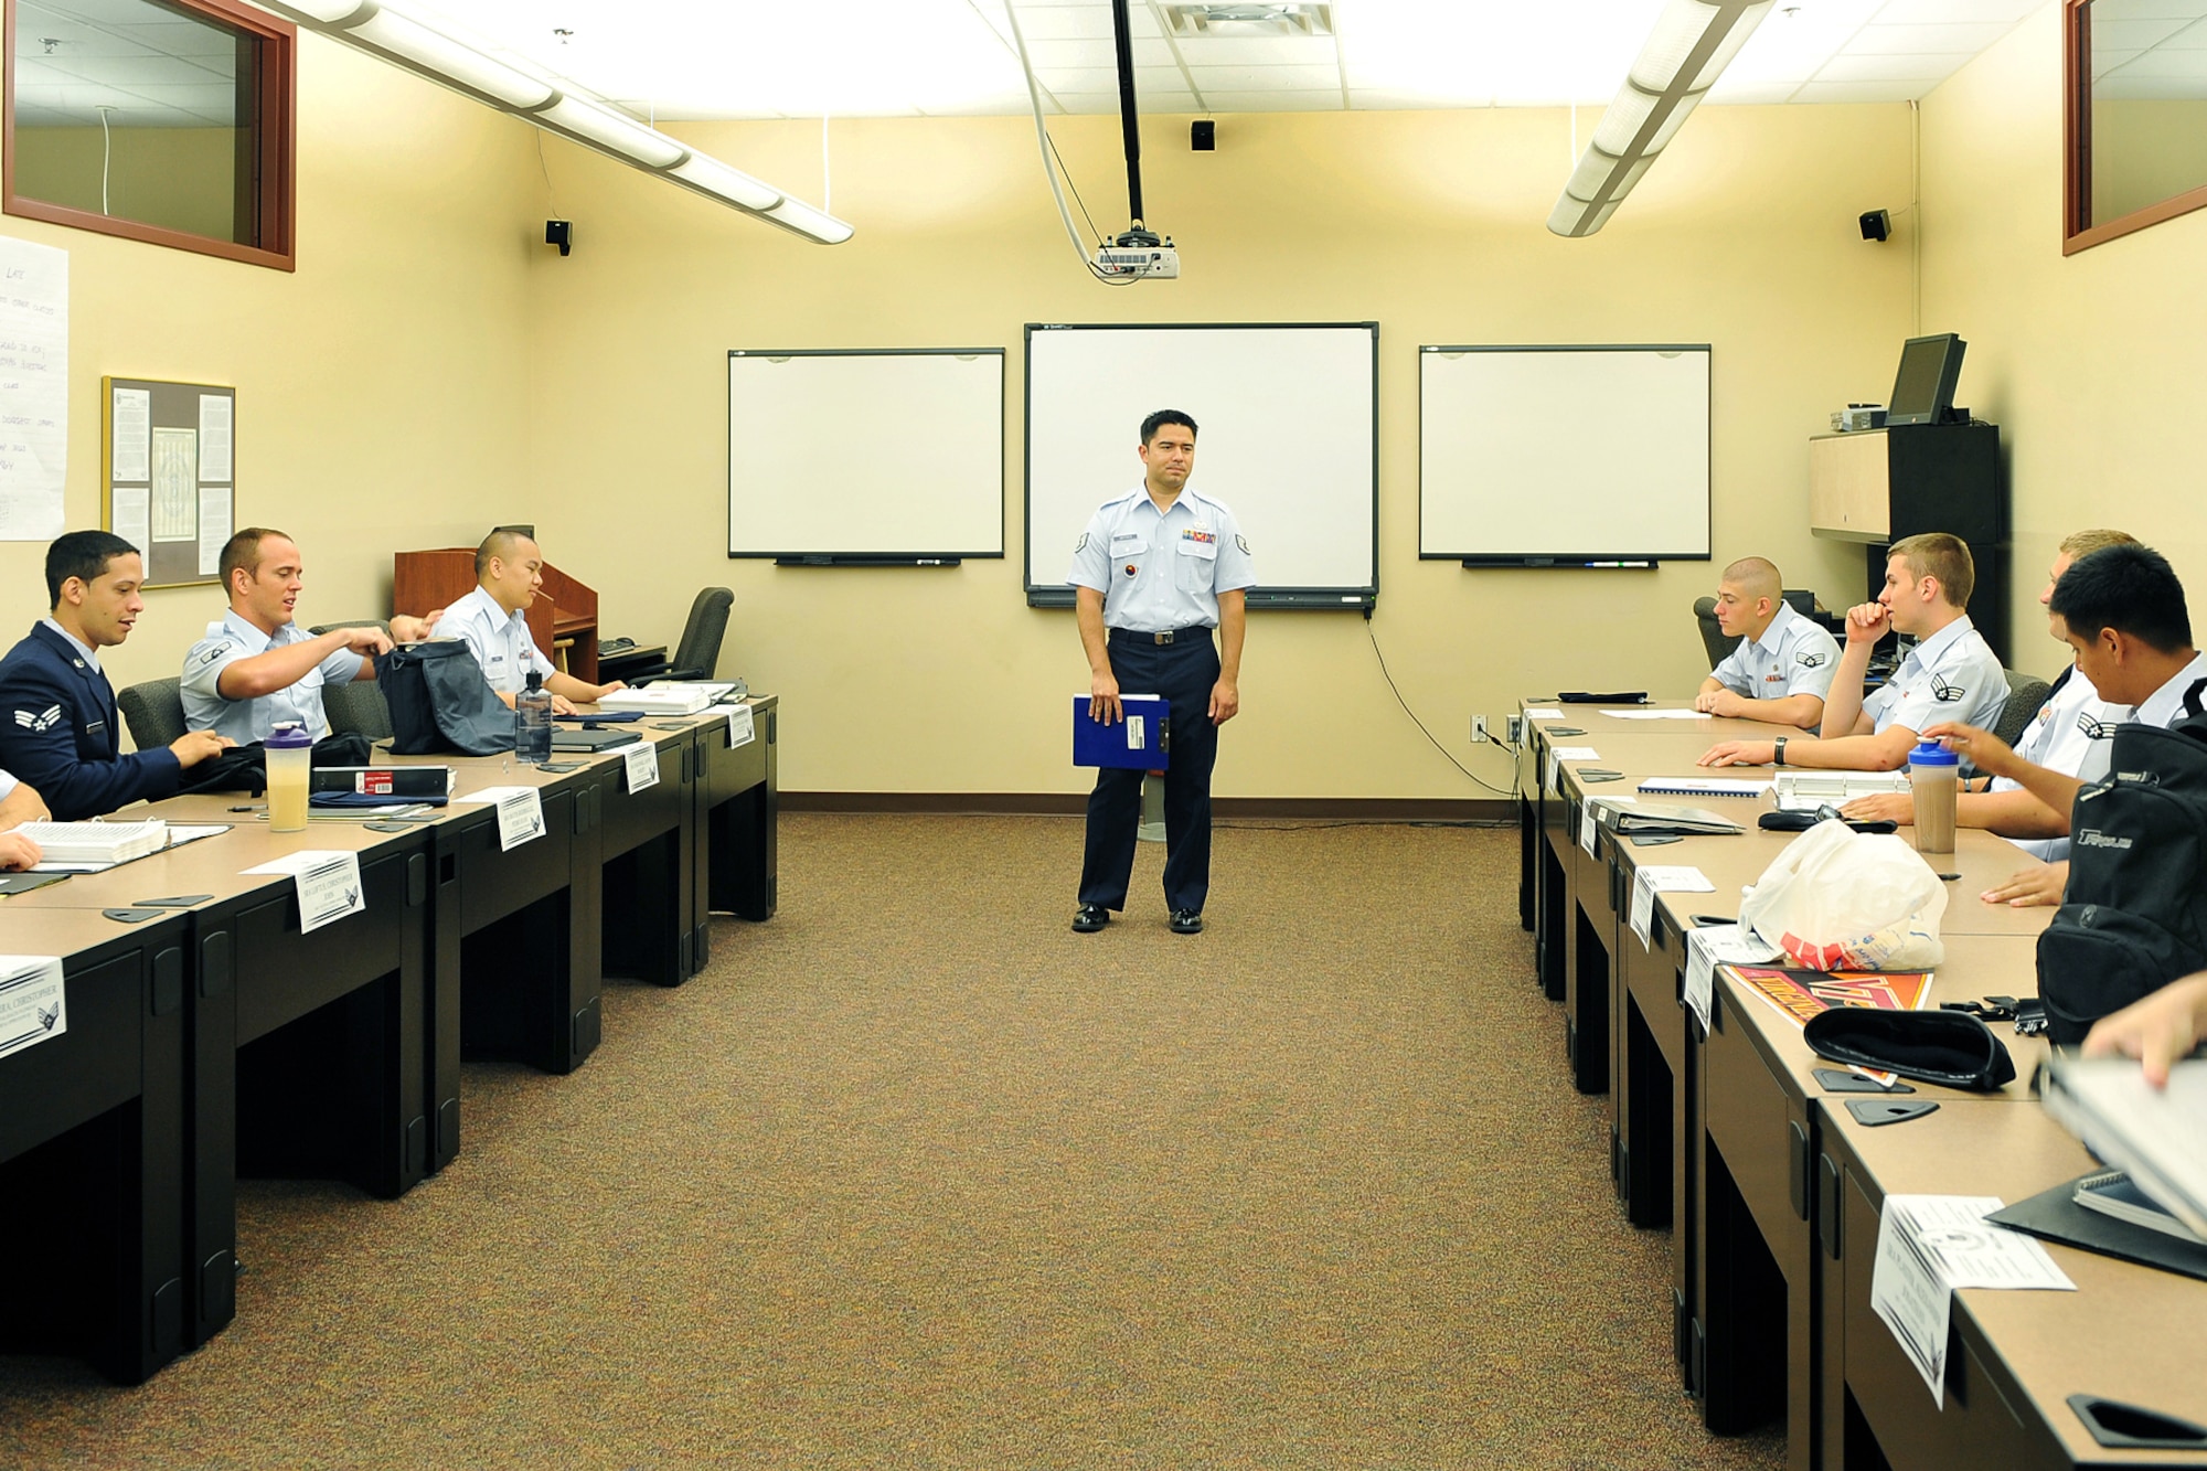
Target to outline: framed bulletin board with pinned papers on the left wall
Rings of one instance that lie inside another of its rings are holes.
[[[102,523],[146,559],[148,588],[218,583],[236,530],[238,391],[99,380]]]

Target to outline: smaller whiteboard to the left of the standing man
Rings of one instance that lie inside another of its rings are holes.
[[[1002,554],[1002,347],[728,353],[728,557]]]

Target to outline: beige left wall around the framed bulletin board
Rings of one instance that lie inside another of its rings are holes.
[[[393,546],[479,535],[525,484],[534,130],[300,38],[298,272],[62,230],[68,252],[68,526],[99,526],[99,378],[238,391],[238,517],[307,552],[300,621],[388,605]],[[44,543],[0,543],[0,636],[46,610]],[[148,594],[115,685],[177,674],[212,588]]]

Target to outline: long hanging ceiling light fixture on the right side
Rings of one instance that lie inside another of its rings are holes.
[[[1770,7],[1772,0],[1671,0],[1593,128],[1547,227],[1585,236],[1607,225]]]

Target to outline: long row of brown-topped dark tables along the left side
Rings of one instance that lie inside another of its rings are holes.
[[[545,830],[512,850],[501,848],[488,804],[452,804],[388,833],[318,819],[278,835],[258,804],[179,797],[141,811],[232,830],[7,899],[13,950],[68,956],[73,1029],[0,1060],[0,1118],[11,1120],[0,1131],[9,1171],[0,1184],[60,1179],[88,1202],[86,1182],[121,1168],[117,1151],[130,1140],[115,1129],[128,1124],[143,1155],[135,1188],[152,1204],[117,1230],[148,1263],[168,1266],[148,1288],[157,1310],[132,1310],[148,1323],[135,1336],[104,1312],[90,1319],[97,1341],[57,1334],[68,1314],[26,1301],[0,1316],[0,1343],[60,1345],[113,1378],[146,1378],[236,1312],[238,1173],[340,1177],[399,1195],[459,1151],[463,1040],[569,1071],[600,1040],[603,959],[614,974],[678,985],[706,961],[715,906],[768,919],[779,731],[770,696],[750,705],[753,736],[742,744],[722,716],[642,729],[658,751],[655,784],[631,784],[620,751],[547,769],[510,758],[439,762],[455,766],[457,795],[539,791]],[[291,879],[243,872],[305,848],[360,855],[364,912],[302,934]],[[44,950],[42,936],[75,943]],[[166,945],[152,948],[154,939]],[[139,965],[172,1007],[135,1036],[106,1027],[108,992],[79,1001],[79,965],[104,965],[102,976]],[[93,1069],[77,1062],[93,1082],[53,1091],[55,1058],[86,1047],[102,1058]],[[137,1073],[141,1087],[110,1098],[119,1084],[97,1082],[102,1071]],[[79,1093],[82,1107],[62,1107]],[[86,1113],[93,1102],[99,1109]],[[137,1113],[115,1122],[124,1104]],[[31,1157],[18,1164],[18,1155]],[[181,1219],[170,1228],[157,1208]],[[0,1215],[0,1230],[15,1230],[15,1217]],[[79,1294],[108,1290],[84,1272],[57,1281]],[[84,1308],[82,1297],[71,1301]],[[126,1341],[139,1347],[126,1352]]]

